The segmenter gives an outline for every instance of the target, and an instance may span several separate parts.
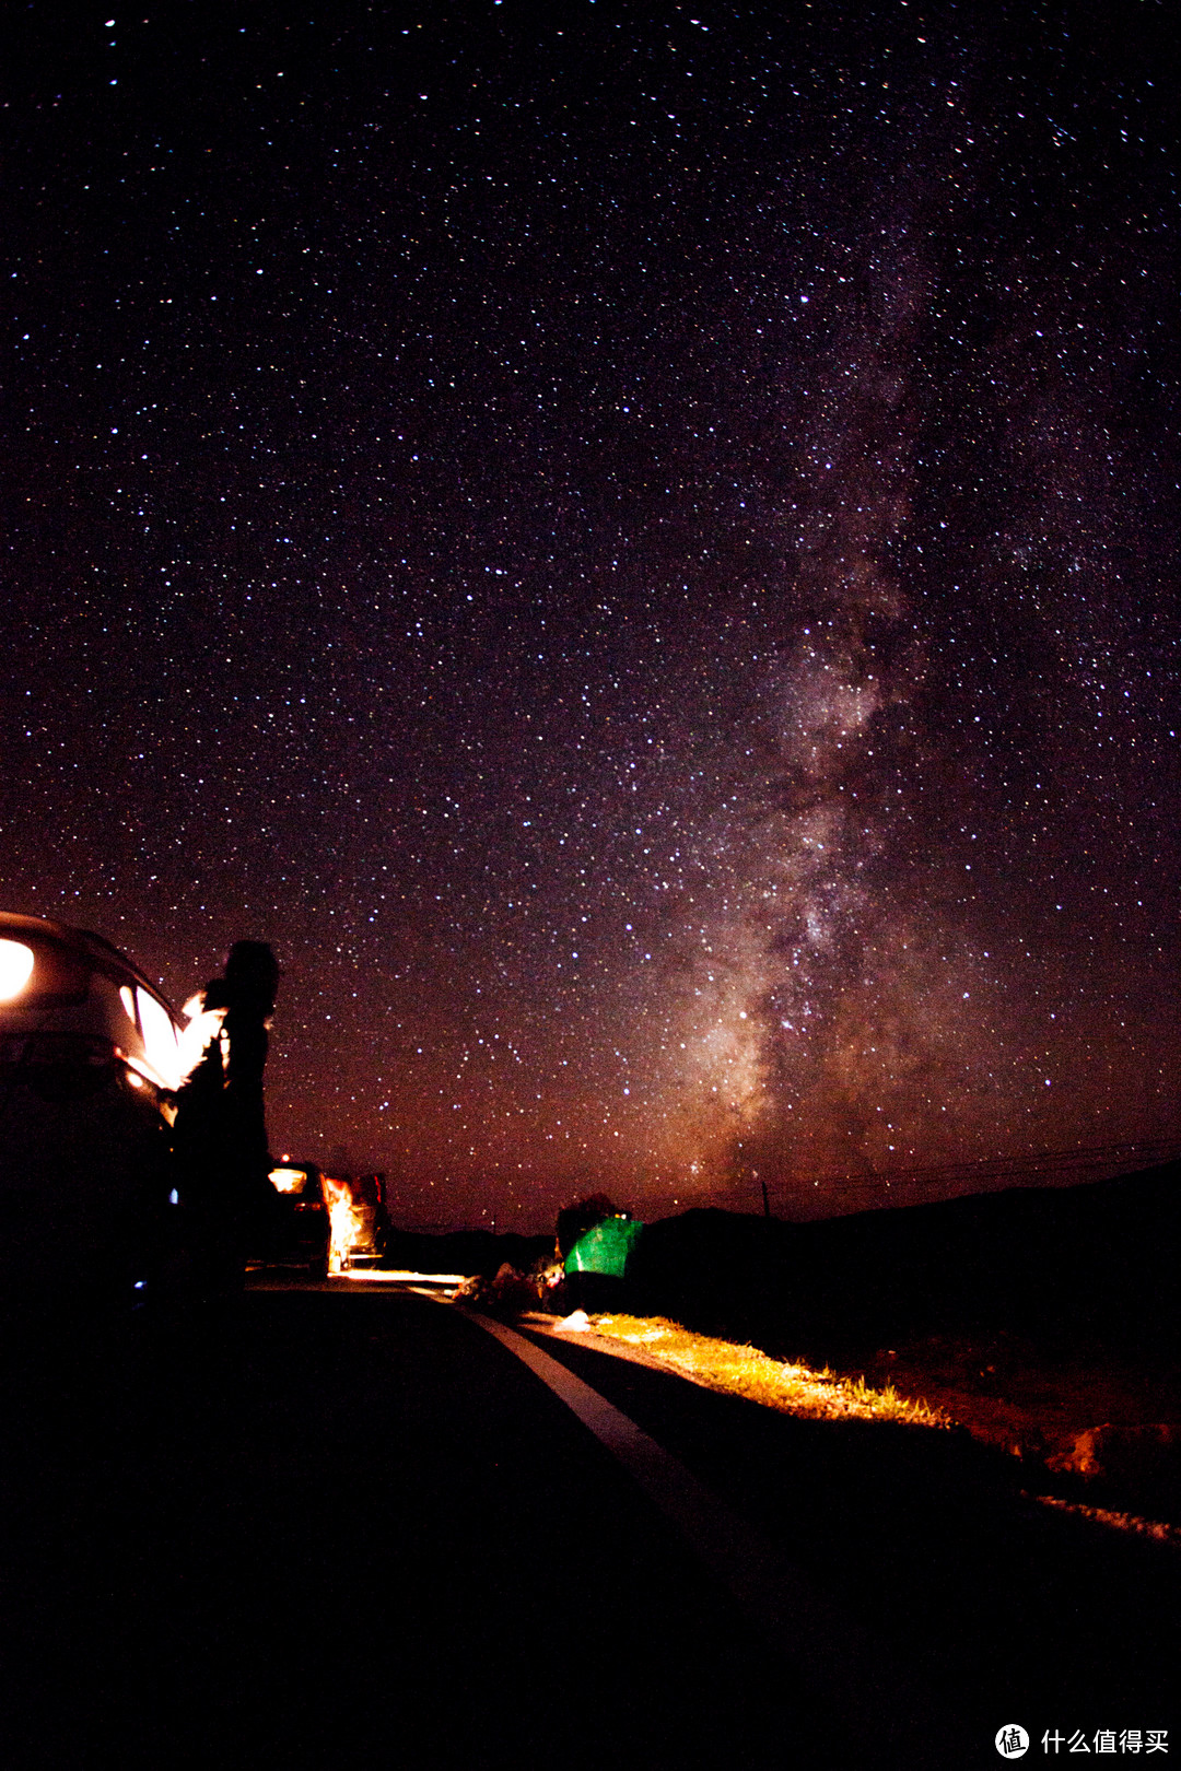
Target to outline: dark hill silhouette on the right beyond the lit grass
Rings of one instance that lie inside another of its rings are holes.
[[[1181,1164],[807,1224],[694,1210],[650,1224],[643,1314],[839,1364],[915,1335],[1007,1330],[1177,1353]]]

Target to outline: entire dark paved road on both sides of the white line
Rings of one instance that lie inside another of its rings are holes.
[[[544,1344],[823,1596],[827,1677],[459,1311],[257,1289],[198,1328],[9,1342],[0,1762],[951,1771],[1000,1764],[1006,1721],[1169,1725],[1172,1558],[947,1436]]]

